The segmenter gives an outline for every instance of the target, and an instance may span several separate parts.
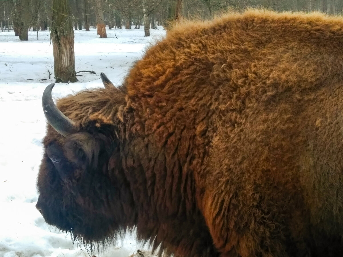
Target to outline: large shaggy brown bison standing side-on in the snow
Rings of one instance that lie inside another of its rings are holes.
[[[45,221],[88,249],[343,254],[343,18],[249,10],[176,25],[123,83],[51,98]]]

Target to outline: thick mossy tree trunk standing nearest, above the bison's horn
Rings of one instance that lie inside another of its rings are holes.
[[[51,20],[56,83],[76,82],[74,31],[68,0],[53,0]]]

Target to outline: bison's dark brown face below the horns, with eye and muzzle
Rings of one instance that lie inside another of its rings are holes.
[[[49,132],[37,181],[37,209],[48,224],[86,242],[110,237],[119,226],[115,205],[120,200],[117,181],[109,174],[110,157],[116,162],[117,150],[111,136],[102,131],[48,138]]]

